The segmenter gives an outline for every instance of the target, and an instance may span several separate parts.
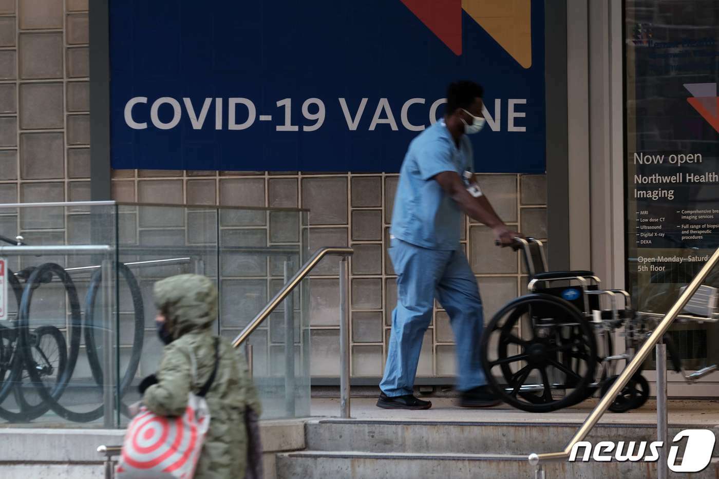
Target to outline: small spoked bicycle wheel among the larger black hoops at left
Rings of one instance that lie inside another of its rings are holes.
[[[24,391],[24,380],[29,380],[29,370],[34,370],[42,380],[43,388],[50,391],[50,395],[62,387],[60,378],[68,367],[68,345],[60,329],[54,326],[41,326],[29,333],[29,355],[24,357],[25,370],[15,388],[15,400],[27,421],[32,421],[50,411],[50,403],[43,401],[33,391]],[[32,387],[32,384],[29,385]],[[33,397],[37,396],[37,397]],[[35,399],[30,401],[29,398]]]

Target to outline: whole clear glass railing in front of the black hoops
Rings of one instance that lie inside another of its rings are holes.
[[[124,426],[162,357],[157,280],[212,278],[232,340],[308,257],[298,209],[0,205],[0,235],[0,426]],[[309,414],[309,342],[303,283],[242,348],[263,419]]]

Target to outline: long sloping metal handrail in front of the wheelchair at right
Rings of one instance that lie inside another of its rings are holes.
[[[649,337],[644,341],[644,344],[641,345],[639,350],[636,352],[636,355],[634,355],[633,359],[628,363],[626,368],[622,371],[622,373],[619,375],[617,380],[614,381],[612,387],[609,388],[609,391],[603,396],[601,401],[597,404],[595,409],[592,410],[589,416],[587,416],[587,419],[585,419],[584,423],[580,427],[579,430],[577,430],[577,433],[574,434],[574,437],[569,440],[567,443],[567,447],[564,447],[564,450],[561,452],[546,452],[544,454],[531,454],[528,457],[529,463],[533,466],[539,467],[541,470],[541,462],[542,461],[551,461],[551,460],[563,460],[567,459],[569,455],[572,453],[572,448],[574,447],[574,444],[577,444],[577,442],[580,442],[587,437],[587,434],[590,433],[592,428],[597,424],[599,419],[603,416],[603,414],[607,411],[610,404],[614,402],[614,398],[617,397],[619,391],[621,391],[624,386],[629,382],[630,378],[636,373],[636,371],[639,369],[639,366],[646,360],[646,357],[649,356],[649,352],[651,352],[651,348],[654,347],[654,345],[657,345],[661,338],[664,337],[664,333],[667,332],[667,329],[669,329],[670,326],[672,326],[672,322],[674,322],[674,319],[679,315],[679,311],[682,311],[684,309],[684,306],[687,305],[690,298],[694,295],[694,293],[697,291],[697,289],[701,286],[702,281],[705,280],[707,275],[709,275],[709,272],[714,268],[716,263],[719,261],[719,248],[717,248],[713,255],[707,260],[707,263],[702,266],[702,269],[699,270],[699,273],[692,279],[692,282],[689,283],[689,286],[687,286],[686,289],[684,289],[684,292],[679,296],[679,299],[672,305],[672,307],[669,309],[667,314],[664,315],[664,318],[659,321],[659,324],[656,325],[656,329],[649,335]],[[661,345],[660,345],[661,346]],[[666,347],[666,345],[664,345]],[[657,348],[659,350],[659,348]],[[657,363],[656,367],[658,369],[666,368],[666,364],[662,362],[659,364]],[[666,380],[666,378],[664,378]],[[657,429],[661,434],[661,431],[663,429],[663,434],[666,435],[667,432],[667,416],[666,411],[664,411],[664,417],[661,417],[661,413],[659,411],[660,409],[660,402],[659,391],[663,390],[666,394],[666,383],[661,386],[659,385],[659,378],[657,380],[657,416],[659,416],[659,420],[657,421]],[[664,406],[666,406],[666,396],[664,396]],[[664,422],[664,424],[661,424]],[[663,439],[666,442],[666,437]],[[662,451],[664,451],[665,448],[662,448]],[[661,459],[659,460],[661,462]],[[664,458],[664,465],[666,465],[666,457]],[[538,470],[538,472],[539,472]]]

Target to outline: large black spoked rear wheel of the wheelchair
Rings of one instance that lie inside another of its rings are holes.
[[[586,398],[594,381],[597,345],[592,326],[577,308],[556,296],[539,293],[511,301],[487,325],[482,351],[490,387],[523,411],[572,406]]]

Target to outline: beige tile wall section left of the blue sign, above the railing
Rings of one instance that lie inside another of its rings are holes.
[[[89,199],[88,0],[0,0],[2,201]]]

